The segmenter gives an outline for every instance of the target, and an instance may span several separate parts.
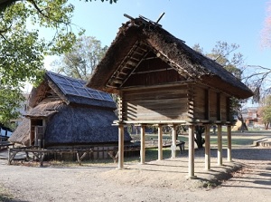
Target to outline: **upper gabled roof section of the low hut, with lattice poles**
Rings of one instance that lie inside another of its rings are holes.
[[[46,72],[44,81],[37,88],[33,88],[29,98],[30,107],[37,106],[46,97],[57,97],[67,104],[76,103],[116,109],[116,103],[110,94],[86,87],[85,81],[54,72]]]

